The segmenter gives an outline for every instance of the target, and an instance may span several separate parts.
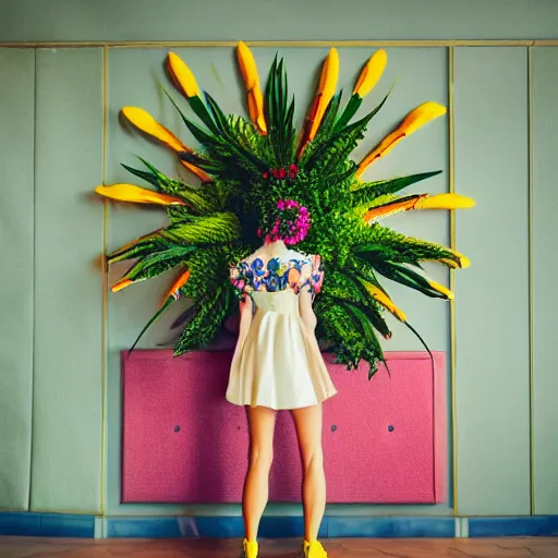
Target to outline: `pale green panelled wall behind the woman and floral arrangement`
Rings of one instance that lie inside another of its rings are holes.
[[[558,3],[411,0],[332,3],[2,2],[0,41],[129,39],[415,39],[553,38]],[[46,5],[48,4],[48,9]],[[279,8],[280,5],[280,8]],[[128,7],[124,9],[124,7]],[[499,10],[505,8],[504,12]],[[156,12],[154,12],[154,10]],[[330,10],[330,12],[331,12]],[[271,12],[272,13],[271,13]],[[33,15],[29,15],[33,14]],[[293,16],[296,14],[296,16]],[[407,14],[407,15],[405,15]],[[288,20],[288,21],[287,21]],[[71,22],[71,23],[70,23]],[[341,24],[340,22],[345,22]],[[478,22],[483,22],[482,25]],[[349,83],[373,49],[341,50]],[[171,170],[171,158],[118,123],[123,105],[141,104],[170,128],[178,121],[157,92],[167,49],[108,52],[107,181],[125,179],[120,161],[142,155]],[[241,93],[232,50],[180,50],[219,101],[238,110]],[[271,50],[258,50],[268,60]],[[299,93],[324,49],[284,50]],[[397,87],[378,117],[379,137],[412,106],[448,100],[445,48],[390,48],[381,87]],[[0,49],[0,509],[97,511],[101,490],[101,207],[88,194],[100,183],[100,48]],[[457,274],[458,494],[460,513],[558,513],[558,395],[553,341],[558,296],[553,278],[557,208],[555,177],[558,48],[454,49],[456,186],[478,201],[459,214],[457,247],[473,259]],[[220,80],[215,77],[210,62]],[[529,76],[532,95],[529,95]],[[227,92],[223,85],[227,87]],[[35,93],[35,84],[37,90]],[[232,95],[230,90],[234,92]],[[294,84],[293,84],[294,85]],[[378,89],[378,95],[383,88]],[[371,99],[371,102],[373,99]],[[530,104],[532,119],[530,120]],[[304,102],[301,104],[304,106]],[[531,161],[527,131],[532,126]],[[178,128],[175,128],[178,130]],[[368,145],[366,143],[366,145]],[[531,162],[531,167],[530,167]],[[448,136],[430,124],[398,146],[377,173],[439,168],[428,190],[448,189]],[[530,353],[529,174],[533,174],[533,352]],[[111,207],[108,247],[165,222],[160,214]],[[393,226],[448,241],[448,217],[398,216]],[[7,239],[10,239],[7,241]],[[489,239],[489,240],[488,240]],[[114,269],[114,274],[122,269]],[[447,281],[442,270],[436,277]],[[158,302],[166,281],[109,296],[107,487],[109,513],[238,513],[238,507],[120,506],[118,351]],[[395,296],[434,349],[448,349],[448,307],[407,290]],[[146,345],[168,340],[162,322]],[[389,348],[416,349],[403,330]],[[530,393],[533,360],[533,399]],[[531,408],[531,403],[533,407]],[[530,417],[534,430],[530,432]],[[32,435],[33,433],[33,435]],[[531,439],[531,434],[533,438]],[[33,444],[32,444],[33,441]],[[530,445],[533,444],[531,454]],[[33,458],[31,457],[33,454]],[[530,465],[534,463],[534,501]],[[29,488],[31,486],[31,488]],[[29,494],[31,493],[31,494]],[[280,507],[277,512],[298,508]],[[447,506],[331,508],[351,513],[448,513]]]

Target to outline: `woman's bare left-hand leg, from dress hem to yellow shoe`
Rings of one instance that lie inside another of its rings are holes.
[[[274,459],[276,412],[265,407],[247,407],[250,432],[248,471],[244,481],[242,514],[247,541],[256,541],[259,520],[269,494],[269,470]]]

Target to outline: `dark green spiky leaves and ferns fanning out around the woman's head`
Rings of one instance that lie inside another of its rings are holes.
[[[354,122],[362,99],[350,97],[340,111],[341,97],[342,92],[331,98],[315,138],[298,146],[294,100],[289,98],[284,63],[277,57],[264,93],[267,134],[260,134],[245,118],[225,114],[208,94],[189,99],[197,121],[186,117],[169,95],[199,144],[196,151],[183,151],[180,158],[213,179],[193,186],[167,177],[144,159],[141,161],[145,169],[124,166],[158,191],[180,197],[185,205],[167,207],[168,227],[117,250],[108,258],[136,259],[124,276],[132,281],[178,266],[189,270],[189,280],[177,296],[185,296],[192,304],[173,325],[183,328],[175,354],[209,344],[223,319],[235,312],[238,301],[229,268],[260,242],[256,230],[271,219],[280,198],[295,199],[308,209],[312,227],[296,250],[323,258],[324,289],[315,301],[317,331],[329,343],[337,362],[349,369],[365,361],[372,377],[378,363],[385,362],[377,333],[391,337],[385,308],[363,281],[384,291],[379,279],[388,278],[428,296],[444,298],[409,266],[420,267],[424,260],[459,264],[452,251],[377,223],[367,226],[362,219],[371,207],[395,199],[401,190],[439,171],[367,183],[356,181],[351,154],[388,96]],[[284,179],[270,173],[271,169],[293,167],[295,172],[287,173]],[[169,296],[140,337],[173,301]]]

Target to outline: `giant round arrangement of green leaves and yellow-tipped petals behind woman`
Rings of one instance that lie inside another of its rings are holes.
[[[274,223],[270,217],[277,210],[296,209],[303,222],[295,223],[299,232],[293,229],[293,242],[306,253],[319,254],[326,270],[315,301],[318,336],[348,368],[357,366],[361,360],[368,362],[372,377],[377,363],[385,362],[376,333],[391,337],[385,311],[416,333],[384,288],[384,278],[427,296],[449,300],[452,293],[425,277],[421,264],[437,262],[450,268],[469,265],[458,252],[395,232],[378,219],[410,209],[472,207],[474,202],[458,194],[398,194],[439,171],[372,182],[361,177],[398,143],[445,114],[446,109],[432,101],[420,105],[363,160],[353,161],[351,153],[387,99],[354,120],[363,98],[384,72],[384,50],[372,56],[343,104],[341,93],[336,93],[339,58],[331,49],[300,133],[293,124],[294,100],[289,99],[283,61],[275,58],[263,92],[254,57],[244,43],[239,44],[238,57],[250,119],[225,114],[216,100],[199,89],[187,65],[177,54],[168,56],[174,85],[198,121],[187,118],[171,101],[199,143],[197,149],[186,146],[143,109],[122,109],[132,124],[172,149],[201,184],[167,177],[142,159],[144,169],[125,168],[154,190],[133,184],[96,189],[109,198],[161,205],[170,219],[168,227],[107,256],[109,263],[135,260],[112,291],[177,269],[178,279],[146,328],[177,299],[185,296],[192,305],[175,323],[182,332],[174,354],[205,347],[236,310],[229,267],[260,244],[262,222]],[[280,201],[284,205],[278,207]],[[304,223],[308,216],[310,228],[308,220]],[[286,234],[274,232],[272,227],[265,233]]]

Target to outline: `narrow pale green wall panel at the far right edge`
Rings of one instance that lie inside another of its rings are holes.
[[[532,51],[535,513],[558,514],[558,48]]]

